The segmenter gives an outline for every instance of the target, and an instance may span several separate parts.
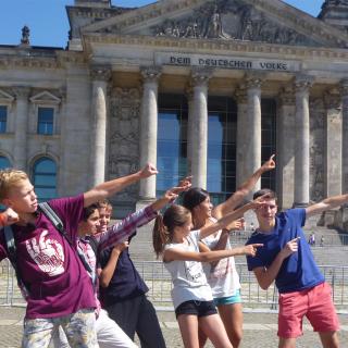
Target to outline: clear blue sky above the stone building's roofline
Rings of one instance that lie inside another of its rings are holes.
[[[17,45],[21,29],[30,28],[33,46],[65,47],[69,22],[65,5],[74,0],[0,0],[0,45]],[[113,5],[140,7],[153,0],[112,0]],[[313,16],[320,12],[324,0],[286,0],[285,2]]]

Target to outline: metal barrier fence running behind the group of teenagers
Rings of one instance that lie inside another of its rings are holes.
[[[138,261],[135,266],[149,287],[149,299],[158,310],[172,310],[171,276],[159,261]],[[237,263],[241,283],[241,297],[245,308],[251,310],[276,310],[278,293],[272,285],[268,290],[262,290],[246,263]],[[326,281],[333,288],[333,299],[337,310],[348,308],[348,266],[320,266]],[[0,262],[0,304],[25,304],[16,286],[13,269],[8,260]]]

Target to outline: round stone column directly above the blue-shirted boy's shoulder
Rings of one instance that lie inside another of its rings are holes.
[[[309,89],[313,83],[310,76],[295,78],[296,96],[296,144],[295,144],[295,190],[294,206],[306,207],[309,203],[310,175],[310,123],[309,123]]]

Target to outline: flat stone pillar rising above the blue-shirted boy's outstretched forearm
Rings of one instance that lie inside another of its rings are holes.
[[[325,197],[341,194],[341,99],[339,95],[324,95],[325,117]]]

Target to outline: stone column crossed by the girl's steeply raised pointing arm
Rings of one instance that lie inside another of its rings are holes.
[[[261,166],[261,85],[263,77],[259,74],[246,76],[248,107],[245,117],[244,181]],[[253,191],[260,187],[261,182],[259,181]]]

